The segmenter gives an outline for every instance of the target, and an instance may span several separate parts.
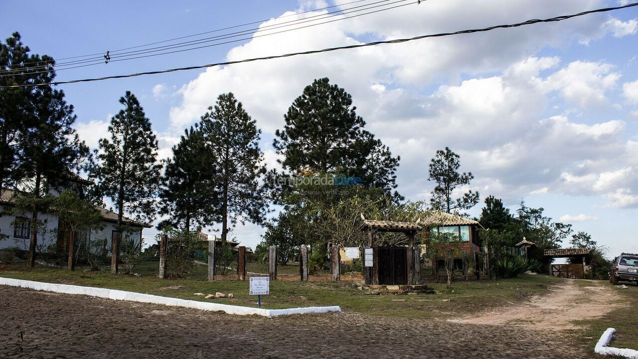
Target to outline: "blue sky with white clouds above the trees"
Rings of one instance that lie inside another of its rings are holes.
[[[346,3],[346,0],[339,3]],[[359,4],[372,3],[373,0]],[[622,2],[621,2],[622,3]],[[262,19],[323,1],[3,1],[0,34],[19,31],[33,52],[56,59],[166,40]],[[419,34],[456,31],[615,6],[618,1],[428,0],[399,9],[207,49],[59,71],[58,80],[201,65]],[[352,5],[351,5],[352,6]],[[325,11],[324,11],[325,12]],[[9,16],[6,16],[9,14]],[[309,13],[304,16],[317,15]],[[286,13],[290,15],[290,13]],[[471,187],[524,199],[609,247],[638,252],[638,8],[553,24],[400,45],[332,52],[61,86],[92,146],[119,111],[119,96],[138,96],[169,155],[186,126],[233,91],[263,129],[269,165],[272,134],[304,86],[329,77],[353,95],[367,127],[401,155],[399,191],[427,199],[427,163],[450,146],[472,171]],[[480,206],[471,211],[478,215]],[[212,229],[218,229],[214,227]],[[154,230],[145,232],[151,238]],[[262,228],[235,229],[254,247]],[[566,243],[567,244],[567,243]]]

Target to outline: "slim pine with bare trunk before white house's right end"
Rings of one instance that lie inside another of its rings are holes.
[[[124,211],[137,220],[152,222],[162,167],[156,161],[158,141],[140,102],[131,91],[126,91],[119,102],[124,109],[111,118],[111,138],[100,139],[98,164],[91,168],[91,178],[98,180],[101,193],[117,211],[119,234],[112,238],[112,273],[117,273],[121,236],[127,230],[122,220]]]

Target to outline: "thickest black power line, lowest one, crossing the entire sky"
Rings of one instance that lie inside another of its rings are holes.
[[[490,27],[483,27],[481,29],[461,30],[461,31],[455,31],[454,33],[427,34],[427,35],[415,36],[415,37],[412,37],[412,38],[402,38],[402,39],[395,39],[395,40],[376,41],[376,42],[362,43],[362,44],[359,44],[359,45],[348,45],[348,46],[341,46],[341,47],[330,47],[328,49],[322,49],[322,50],[309,50],[309,51],[303,51],[303,52],[292,52],[292,53],[283,54],[283,55],[253,57],[251,59],[243,59],[243,60],[237,60],[237,61],[226,61],[226,62],[223,62],[223,63],[212,63],[212,64],[208,64],[208,65],[198,65],[198,66],[188,66],[188,67],[181,67],[181,68],[171,68],[171,69],[168,69],[168,70],[130,73],[128,75],[114,75],[114,76],[98,77],[98,78],[94,78],[94,79],[56,81],[56,82],[46,82],[46,83],[40,83],[40,84],[22,84],[22,85],[13,85],[13,86],[2,86],[1,88],[17,88],[17,87],[21,87],[21,86],[29,86],[29,87],[31,87],[31,86],[75,84],[77,82],[93,82],[93,81],[101,81],[101,80],[108,80],[108,79],[123,79],[123,78],[126,78],[126,77],[137,77],[137,76],[142,76],[142,75],[155,75],[155,74],[158,74],[158,73],[176,72],[176,71],[184,71],[184,70],[197,70],[199,68],[207,68],[207,67],[223,66],[223,65],[234,65],[234,64],[237,64],[237,63],[247,63],[247,62],[252,62],[252,61],[278,59],[278,58],[281,58],[281,57],[291,57],[291,56],[299,56],[299,55],[318,54],[320,52],[330,52],[330,51],[336,51],[336,50],[356,49],[356,48],[359,48],[359,47],[375,46],[375,45],[381,45],[381,44],[386,44],[386,43],[403,43],[403,42],[409,42],[409,41],[413,41],[413,40],[420,40],[420,39],[423,39],[423,38],[452,36],[452,35],[458,35],[458,34],[482,33],[482,32],[491,31],[491,30],[494,30],[494,29],[505,29],[505,28],[508,28],[508,27],[519,27],[519,26],[533,25],[533,24],[538,24],[540,22],[558,22],[558,21],[562,21],[562,20],[572,19],[573,17],[580,17],[580,16],[584,16],[584,15],[589,15],[591,13],[602,13],[602,12],[607,12],[607,11],[619,10],[619,9],[623,9],[623,8],[630,8],[630,7],[633,7],[633,6],[638,6],[638,3],[631,3],[631,4],[627,4],[627,5],[623,5],[623,6],[616,6],[616,7],[613,7],[613,8],[600,8],[600,9],[596,9],[596,10],[583,11],[581,13],[576,13],[576,14],[573,14],[573,15],[561,15],[561,16],[557,16],[557,17],[551,17],[549,19],[532,19],[532,20],[527,20],[525,22],[518,22],[516,24],[496,25],[496,26],[490,26]]]

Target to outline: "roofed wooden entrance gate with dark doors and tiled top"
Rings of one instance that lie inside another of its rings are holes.
[[[360,229],[367,233],[366,249],[372,249],[372,266],[364,267],[366,284],[414,285],[419,283],[420,252],[414,247],[414,238],[417,232],[422,230],[419,222],[393,222],[364,218]],[[408,237],[408,245],[407,247],[375,246],[374,237],[378,232],[404,233]],[[369,263],[369,259],[367,262]]]

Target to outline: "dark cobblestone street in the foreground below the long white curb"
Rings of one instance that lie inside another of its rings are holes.
[[[560,333],[355,314],[288,317],[0,286],[0,358],[589,358]],[[24,351],[16,351],[24,330]]]

